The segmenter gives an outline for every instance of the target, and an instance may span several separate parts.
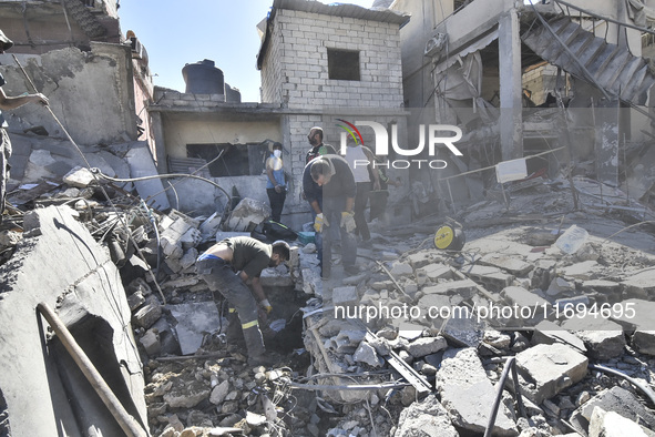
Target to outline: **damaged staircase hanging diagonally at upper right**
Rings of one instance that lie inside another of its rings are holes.
[[[522,40],[547,62],[595,83],[607,94],[626,103],[648,104],[655,68],[626,48],[607,43],[604,38],[584,30],[567,17],[531,28]]]

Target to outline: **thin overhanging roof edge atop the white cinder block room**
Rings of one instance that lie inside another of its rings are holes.
[[[266,19],[266,32],[264,35],[264,40],[262,41],[262,47],[259,48],[259,53],[257,54],[257,70],[262,70],[264,58],[266,58],[272,23],[275,18],[275,13],[278,9],[288,9],[291,11],[313,12],[320,13],[324,16],[348,17],[359,20],[396,23],[400,28],[407,24],[411,17],[409,13],[398,12],[387,8],[367,9],[357,4],[349,3],[325,4],[316,0],[274,0],[268,18]]]

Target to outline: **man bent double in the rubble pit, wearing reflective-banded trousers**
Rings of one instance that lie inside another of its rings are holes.
[[[289,260],[289,245],[262,243],[249,236],[225,238],[203,253],[196,263],[198,275],[212,291],[218,291],[236,309],[248,349],[248,364],[268,365],[264,338],[259,329],[259,314],[265,317],[273,307],[264,294],[259,275],[266,267],[276,267]],[[252,291],[246,282],[252,280]],[[229,324],[236,321],[231,317]],[[234,326],[228,325],[228,332]]]

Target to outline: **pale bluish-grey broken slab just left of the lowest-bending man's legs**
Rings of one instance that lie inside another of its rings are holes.
[[[166,305],[166,308],[177,321],[175,331],[182,355],[195,354],[205,335],[221,327],[221,316],[214,302]]]

